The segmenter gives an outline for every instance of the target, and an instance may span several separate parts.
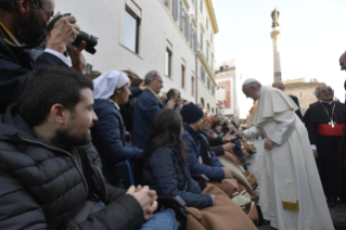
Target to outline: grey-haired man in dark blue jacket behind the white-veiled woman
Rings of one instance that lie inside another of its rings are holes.
[[[138,98],[133,113],[132,143],[139,149],[144,149],[149,136],[150,125],[156,114],[163,108],[163,104],[157,98],[164,81],[155,71],[145,75],[144,84],[146,89]],[[175,102],[168,101],[167,107],[172,108]]]

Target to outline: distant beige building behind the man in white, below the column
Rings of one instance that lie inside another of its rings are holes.
[[[305,82],[305,78],[283,81],[285,85],[285,93],[298,98],[300,111],[304,115],[311,103],[317,102],[316,88],[325,84],[318,80]]]

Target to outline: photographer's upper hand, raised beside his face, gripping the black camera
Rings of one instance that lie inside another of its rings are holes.
[[[61,15],[60,12],[55,16],[59,15]],[[79,26],[75,24],[76,22],[73,15],[60,18],[48,35],[46,48],[63,54],[66,47],[72,44],[79,34]]]

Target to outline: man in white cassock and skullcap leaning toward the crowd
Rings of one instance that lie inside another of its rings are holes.
[[[243,84],[247,98],[258,99],[253,127],[245,138],[265,135],[259,206],[264,218],[279,230],[333,230],[306,128],[296,116],[296,104],[284,92]]]

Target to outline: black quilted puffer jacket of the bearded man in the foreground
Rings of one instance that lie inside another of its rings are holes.
[[[143,210],[107,184],[94,148],[69,152],[36,137],[13,106],[0,116],[0,229],[66,229],[91,197],[107,206],[69,229],[139,229]]]

